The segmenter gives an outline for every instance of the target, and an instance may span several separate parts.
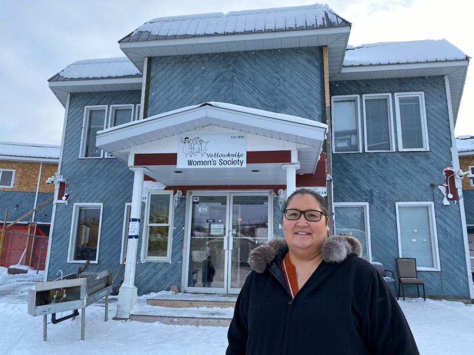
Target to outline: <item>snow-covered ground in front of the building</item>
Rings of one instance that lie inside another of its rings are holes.
[[[206,354],[221,355],[227,347],[227,327],[165,325],[115,321],[116,298],[111,299],[109,321],[104,301],[86,309],[85,341],[80,340],[80,317],[51,324],[42,340],[42,317],[27,313],[27,289],[36,272],[6,275],[0,268],[0,354]],[[421,354],[473,355],[474,305],[460,302],[407,299],[399,302]]]

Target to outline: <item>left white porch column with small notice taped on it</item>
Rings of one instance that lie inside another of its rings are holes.
[[[143,178],[146,168],[130,168],[135,172],[133,178],[132,206],[128,223],[127,258],[125,261],[125,278],[118,292],[117,318],[130,318],[130,312],[137,300],[135,286],[135,267],[137,264],[138,234],[140,213],[142,209]]]

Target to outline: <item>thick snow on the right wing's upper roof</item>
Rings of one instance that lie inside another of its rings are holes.
[[[465,60],[466,54],[446,39],[362,44],[346,51],[344,66]]]

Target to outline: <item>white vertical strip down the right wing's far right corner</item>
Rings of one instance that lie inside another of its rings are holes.
[[[448,103],[448,116],[449,116],[449,128],[451,131],[451,156],[452,156],[452,164],[453,170],[458,171],[460,170],[459,167],[459,156],[458,156],[458,149],[456,148],[456,138],[454,137],[454,116],[453,116],[453,106],[451,103],[451,90],[449,88],[449,77],[448,75],[444,75],[444,85],[446,88],[446,100]],[[455,178],[456,188],[458,189],[458,196],[459,196],[459,212],[461,213],[461,225],[463,229],[463,242],[464,242],[464,253],[466,257],[466,268],[468,272],[468,284],[469,284],[469,294],[471,299],[474,299],[474,284],[473,284],[473,277],[471,273],[471,258],[469,255],[469,243],[468,243],[468,227],[466,225],[466,212],[464,210],[464,198],[461,180]]]

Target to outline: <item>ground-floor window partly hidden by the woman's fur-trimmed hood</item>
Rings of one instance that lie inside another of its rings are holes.
[[[334,203],[335,234],[356,237],[362,245],[363,257],[372,261],[370,248],[369,204],[366,202]]]

